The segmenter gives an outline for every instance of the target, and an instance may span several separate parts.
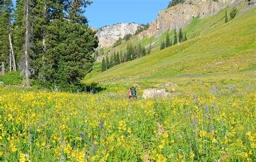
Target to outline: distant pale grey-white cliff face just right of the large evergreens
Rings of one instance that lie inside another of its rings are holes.
[[[116,43],[119,37],[124,38],[129,33],[134,35],[139,26],[134,23],[122,23],[99,29],[97,36],[99,37],[100,47],[111,46]]]

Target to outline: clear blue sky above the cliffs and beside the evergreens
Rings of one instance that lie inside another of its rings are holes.
[[[100,28],[116,23],[146,24],[156,20],[170,0],[92,0],[85,16],[89,26]]]

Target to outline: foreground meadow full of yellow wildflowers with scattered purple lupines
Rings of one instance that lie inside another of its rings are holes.
[[[146,100],[129,100],[117,86],[98,94],[0,90],[1,161],[255,159],[256,96],[239,87]]]

